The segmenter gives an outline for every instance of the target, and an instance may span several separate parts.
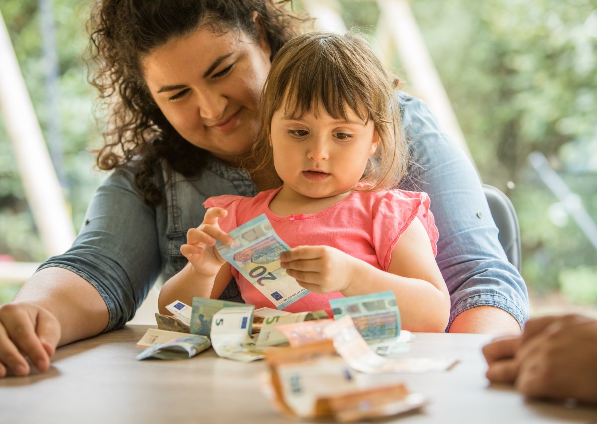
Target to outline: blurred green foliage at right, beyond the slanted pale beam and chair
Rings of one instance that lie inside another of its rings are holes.
[[[521,221],[523,276],[597,303],[597,250],[528,163],[540,151],[597,219],[597,2],[413,1],[481,178]],[[510,188],[512,187],[512,188]]]

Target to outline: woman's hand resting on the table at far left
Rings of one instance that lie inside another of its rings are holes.
[[[27,358],[44,372],[60,341],[60,323],[45,308],[28,302],[0,307],[0,377],[30,373]]]

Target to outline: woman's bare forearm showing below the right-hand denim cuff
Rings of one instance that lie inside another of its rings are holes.
[[[521,327],[509,312],[491,306],[478,306],[460,312],[452,321],[450,333],[486,333],[496,336],[519,335]]]

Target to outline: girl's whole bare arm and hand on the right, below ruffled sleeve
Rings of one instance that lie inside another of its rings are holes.
[[[407,330],[442,332],[448,324],[450,295],[418,218],[393,247],[387,272],[330,246],[297,246],[281,258],[288,275],[312,292],[359,296],[392,290]]]

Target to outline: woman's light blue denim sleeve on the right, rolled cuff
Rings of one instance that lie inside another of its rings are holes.
[[[398,95],[413,164],[401,188],[426,191],[439,230],[436,261],[450,291],[448,329],[461,312],[492,306],[528,318],[527,286],[507,260],[481,182],[464,151],[441,131],[427,105]]]

